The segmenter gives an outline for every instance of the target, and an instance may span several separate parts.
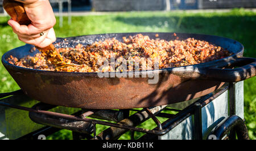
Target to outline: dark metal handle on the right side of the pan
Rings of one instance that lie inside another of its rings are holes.
[[[200,71],[201,78],[223,82],[238,82],[256,75],[256,58],[236,58],[231,66],[237,68],[222,68],[220,66],[203,68]]]

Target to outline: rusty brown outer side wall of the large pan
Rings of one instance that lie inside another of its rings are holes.
[[[10,71],[10,70],[9,70]],[[84,109],[130,109],[166,105],[204,96],[224,83],[208,80],[181,82],[175,75],[159,84],[146,78],[99,78],[41,75],[10,71],[25,94],[53,105]],[[164,79],[164,76],[160,77]]]

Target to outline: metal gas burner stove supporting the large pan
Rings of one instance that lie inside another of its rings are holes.
[[[6,116],[1,118],[1,123],[9,126],[1,127],[2,139],[40,139],[61,129],[71,130],[73,139],[113,140],[127,131],[131,133],[131,140],[135,139],[135,131],[143,133],[139,140],[236,139],[235,133],[238,139],[249,139],[243,121],[243,81],[225,83],[220,89],[196,100],[143,109],[73,109],[75,111],[69,113],[67,107],[31,100],[22,90],[2,93],[0,97],[0,115],[5,113]],[[64,113],[59,113],[60,108]],[[29,116],[22,110],[29,111]],[[16,121],[16,115],[24,122]],[[164,122],[161,123],[158,117],[164,118]],[[148,119],[154,121],[155,128],[138,127]],[[15,127],[17,122],[19,128],[23,128],[22,133]],[[96,135],[97,124],[109,128]],[[9,131],[13,131],[13,135],[9,135]]]

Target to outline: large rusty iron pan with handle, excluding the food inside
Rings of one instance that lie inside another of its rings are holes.
[[[57,40],[57,46],[75,46],[77,43],[90,44],[97,40],[137,33],[97,34],[70,37],[64,43]],[[151,38],[155,33],[143,33]],[[158,38],[171,40],[172,33],[159,33]],[[149,84],[150,77],[98,77],[97,73],[52,72],[32,70],[14,66],[6,61],[13,55],[23,58],[38,52],[30,52],[31,45],[10,50],[2,57],[2,63],[13,76],[25,94],[35,100],[53,105],[79,107],[83,109],[130,109],[167,105],[204,96],[220,88],[224,82],[239,81],[255,75],[256,59],[242,58],[243,46],[228,38],[203,34],[177,34],[180,39],[194,37],[213,42],[233,52],[233,55],[217,61],[192,66],[164,68],[159,70],[159,80]],[[223,67],[247,64],[236,69]],[[253,63],[251,63],[253,62]],[[151,71],[145,71],[151,72]],[[133,72],[134,74],[134,72]],[[222,80],[223,79],[223,80]]]

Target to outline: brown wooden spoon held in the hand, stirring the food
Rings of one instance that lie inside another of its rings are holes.
[[[31,20],[28,18],[26,11],[24,10],[23,3],[16,2],[13,0],[4,0],[3,8],[11,16],[11,18],[17,21],[20,25],[28,25]],[[46,46],[45,48],[36,47],[41,51],[49,62],[57,66],[79,66],[79,64],[66,63],[59,53],[57,53],[56,48],[53,44]]]

